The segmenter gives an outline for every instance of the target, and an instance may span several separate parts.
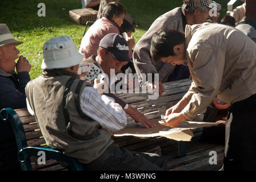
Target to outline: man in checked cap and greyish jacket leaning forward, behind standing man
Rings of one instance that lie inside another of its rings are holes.
[[[137,75],[159,73],[159,94],[164,91],[162,82],[188,78],[190,73],[184,65],[173,66],[151,58],[149,51],[153,34],[163,29],[185,32],[186,24],[205,22],[209,16],[211,3],[211,0],[185,0],[182,7],[177,7],[159,16],[136,44],[133,62]]]

